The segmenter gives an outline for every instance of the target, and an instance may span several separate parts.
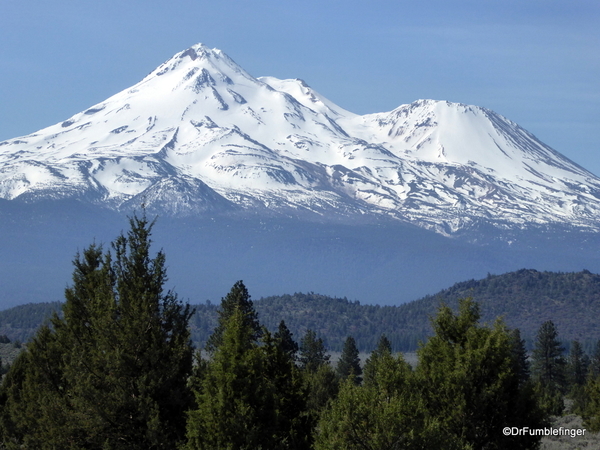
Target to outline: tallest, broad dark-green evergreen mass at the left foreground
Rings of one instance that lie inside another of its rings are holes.
[[[40,329],[3,384],[5,442],[149,449],[182,441],[192,312],[163,291],[165,257],[150,256],[152,226],[134,215],[114,255],[92,245],[76,257],[64,317]]]

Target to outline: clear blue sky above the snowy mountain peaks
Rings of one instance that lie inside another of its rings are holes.
[[[598,0],[2,0],[0,140],[198,42],[359,114],[420,98],[484,106],[600,175]]]

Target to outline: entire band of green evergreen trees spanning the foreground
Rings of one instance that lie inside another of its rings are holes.
[[[380,335],[364,364],[348,334],[334,366],[320,331],[269,331],[243,282],[222,299],[202,351],[172,291],[152,223],[134,216],[109,251],[74,261],[62,315],[20,353],[0,387],[6,449],[520,449],[572,396],[600,427],[597,356],[552,322],[532,358],[501,319],[462,299],[438,308],[411,367]],[[600,358],[600,354],[598,355]]]

